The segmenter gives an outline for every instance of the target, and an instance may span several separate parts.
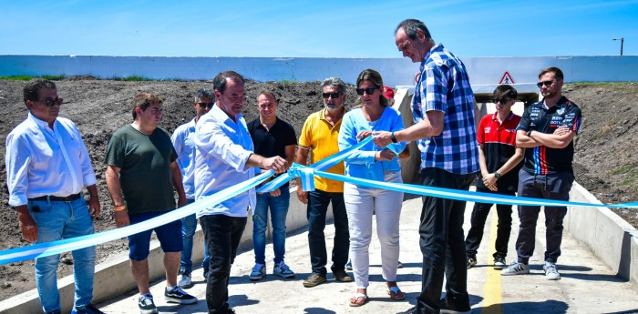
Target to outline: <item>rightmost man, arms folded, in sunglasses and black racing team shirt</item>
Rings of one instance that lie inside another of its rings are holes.
[[[562,71],[548,67],[539,74],[540,102],[525,108],[517,127],[516,145],[525,149],[519,172],[519,196],[569,200],[574,181],[571,161],[573,139],[581,127],[581,109],[562,96]],[[545,278],[561,279],[556,261],[561,256],[562,219],[566,207],[545,206]],[[516,239],[518,259],[501,270],[503,276],[530,273],[528,262],[536,243],[536,221],[540,207],[520,206],[519,237]]]

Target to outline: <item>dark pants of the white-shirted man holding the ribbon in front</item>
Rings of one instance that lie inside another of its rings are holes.
[[[211,272],[206,281],[206,304],[209,313],[227,313],[228,281],[231,266],[242,239],[245,217],[207,215],[200,218],[206,245],[211,255]]]

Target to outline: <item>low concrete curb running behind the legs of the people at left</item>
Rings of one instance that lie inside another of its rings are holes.
[[[328,218],[332,219],[332,209],[328,212]],[[269,219],[270,221],[270,219]],[[290,189],[290,208],[286,218],[288,232],[307,226],[306,206],[297,199],[296,188]],[[272,230],[268,228],[268,238],[272,237]],[[198,225],[193,238],[192,260],[197,266],[203,256],[204,234]],[[240,248],[252,247],[252,219],[249,219],[243,231]],[[155,240],[150,243],[149,253],[149,279],[151,281],[164,278],[163,253],[160,242]],[[73,309],[75,283],[73,276],[67,276],[57,280],[57,289],[60,293],[60,303],[63,312]],[[121,252],[117,256],[96,266],[96,274],[93,283],[93,303],[113,299],[130,289],[137,289],[137,285],[130,273],[129,252]],[[13,298],[0,301],[0,314],[24,314],[39,313],[42,311],[37,289],[32,289]]]

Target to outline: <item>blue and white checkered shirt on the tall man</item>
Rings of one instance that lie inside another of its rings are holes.
[[[438,44],[427,53],[420,70],[412,98],[415,124],[424,119],[427,111],[445,114],[441,134],[417,142],[421,150],[421,168],[437,167],[458,175],[477,172],[474,93],[463,62]]]

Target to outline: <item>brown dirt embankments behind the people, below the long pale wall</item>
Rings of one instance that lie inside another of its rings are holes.
[[[22,101],[24,82],[0,80],[0,249],[26,246],[18,228],[15,211],[7,205],[5,189],[5,138],[26,117]],[[73,120],[84,137],[93,167],[98,177],[98,191],[102,215],[95,221],[96,231],[115,228],[112,204],[104,181],[103,165],[108,140],[119,127],[132,120],[130,102],[139,92],[150,92],[164,97],[164,116],[161,127],[172,132],[190,121],[194,112],[192,97],[197,89],[211,87],[211,82],[146,81],[126,82],[97,80],[92,77],[72,77],[57,82],[58,94],[63,97],[60,116]],[[257,116],[255,99],[259,92],[270,89],[278,96],[278,116],[290,122],[297,137],[309,113],[322,107],[319,82],[266,82],[248,81],[247,103],[244,115],[247,121]],[[638,200],[638,152],[633,137],[638,133],[638,85],[574,84],[565,87],[565,94],[581,106],[583,119],[576,140],[576,180],[590,189],[603,202]],[[356,99],[353,86],[348,86],[347,105]],[[638,225],[635,211],[620,210],[619,214]],[[128,249],[127,241],[119,239],[98,246],[98,262],[114,253]],[[66,253],[64,258],[70,258]],[[58,276],[72,273],[72,266],[60,263]],[[0,266],[0,299],[36,287],[33,261]]]

